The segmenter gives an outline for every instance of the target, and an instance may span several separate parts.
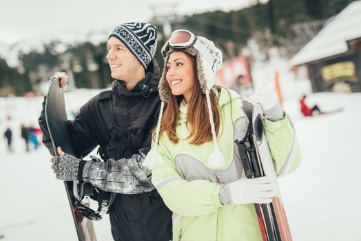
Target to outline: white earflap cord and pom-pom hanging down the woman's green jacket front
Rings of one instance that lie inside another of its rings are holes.
[[[211,154],[209,154],[209,156],[208,156],[207,166],[212,169],[218,169],[225,165],[226,160],[225,160],[225,156],[223,155],[223,153],[220,151],[220,149],[218,147],[216,128],[214,127],[213,112],[212,112],[211,100],[209,98],[208,90],[205,90],[205,97],[207,98],[209,122],[211,123],[212,138],[213,138],[213,143],[214,143],[214,151]]]

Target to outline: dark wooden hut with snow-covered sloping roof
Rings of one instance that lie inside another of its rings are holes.
[[[361,1],[353,1],[291,59],[313,92],[361,92]]]

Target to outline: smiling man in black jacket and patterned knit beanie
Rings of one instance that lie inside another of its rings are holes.
[[[151,129],[161,104],[157,89],[159,67],[152,59],[156,52],[156,28],[149,23],[123,23],[110,34],[107,50],[115,79],[112,128],[108,129],[105,116],[101,115],[102,94],[81,107],[78,116],[69,123],[76,156],[86,156],[101,145],[106,161],[85,161],[65,154],[52,158],[54,173],[60,180],[82,180],[103,191],[117,193],[110,208],[114,240],[171,240],[172,212],[148,179],[149,170],[141,165],[150,149]],[[66,85],[65,73],[56,73],[55,77],[61,78],[61,87]],[[43,143],[51,151],[43,112],[39,124]],[[63,154],[60,147],[58,152]]]

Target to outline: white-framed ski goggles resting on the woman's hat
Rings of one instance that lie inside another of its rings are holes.
[[[163,58],[165,58],[170,48],[173,48],[174,50],[186,50],[191,47],[195,48],[203,55],[215,73],[216,62],[214,61],[212,54],[205,45],[197,39],[197,36],[188,30],[174,30],[169,40],[163,45],[161,53]]]

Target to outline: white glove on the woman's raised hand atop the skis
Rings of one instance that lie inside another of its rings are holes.
[[[262,105],[263,111],[272,109],[278,104],[278,97],[274,89],[266,85],[261,85],[256,87],[254,94],[249,96],[249,98],[257,103]]]

